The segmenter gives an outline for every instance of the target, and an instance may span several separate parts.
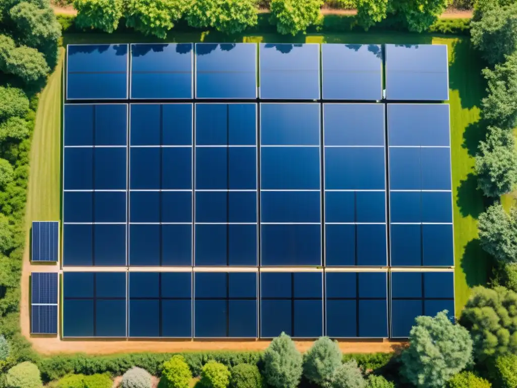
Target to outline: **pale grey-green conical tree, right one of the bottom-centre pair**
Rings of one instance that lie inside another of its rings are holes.
[[[342,364],[341,360],[338,343],[329,337],[320,337],[305,354],[303,374],[318,386],[331,387],[334,372]]]

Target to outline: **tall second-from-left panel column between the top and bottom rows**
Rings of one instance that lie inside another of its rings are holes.
[[[129,265],[192,265],[193,104],[131,104]]]

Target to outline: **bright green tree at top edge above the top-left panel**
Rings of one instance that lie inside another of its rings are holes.
[[[122,18],[123,0],[74,0],[75,24],[81,28],[98,28],[112,33]]]

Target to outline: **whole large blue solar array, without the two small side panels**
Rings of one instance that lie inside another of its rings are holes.
[[[445,46],[69,46],[66,91],[65,337],[453,316]]]

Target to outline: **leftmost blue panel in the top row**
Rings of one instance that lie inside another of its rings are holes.
[[[69,44],[67,99],[128,98],[127,44]]]

